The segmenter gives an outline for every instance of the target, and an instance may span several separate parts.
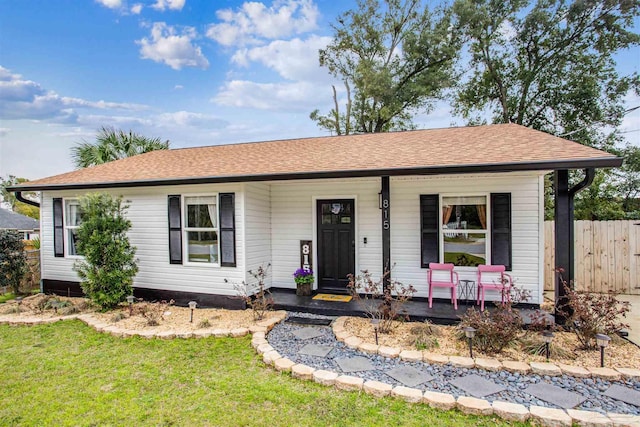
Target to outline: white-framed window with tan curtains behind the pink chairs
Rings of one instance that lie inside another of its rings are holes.
[[[451,262],[457,267],[488,264],[490,226],[487,200],[486,194],[441,196],[441,262]]]

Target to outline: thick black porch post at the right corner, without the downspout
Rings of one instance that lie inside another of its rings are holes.
[[[557,170],[553,174],[553,186],[555,190],[555,268],[564,270],[563,274],[555,274],[555,322],[564,325],[566,319],[560,311],[559,306],[565,306],[567,293],[564,289],[563,280],[567,284],[573,279],[573,262],[571,248],[573,247],[573,211],[572,203],[569,202],[569,171]]]

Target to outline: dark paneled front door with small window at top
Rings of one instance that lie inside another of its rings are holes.
[[[345,292],[355,274],[355,209],[352,199],[318,200],[318,289]]]

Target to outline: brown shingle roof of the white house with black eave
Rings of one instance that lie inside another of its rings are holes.
[[[14,190],[615,167],[622,159],[515,124],[160,150]]]

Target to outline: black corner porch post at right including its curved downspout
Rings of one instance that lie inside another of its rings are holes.
[[[573,287],[574,276],[574,233],[573,233],[573,199],[576,194],[587,188],[593,182],[595,169],[584,170],[584,179],[569,188],[569,171],[557,170],[554,173],[555,187],[555,264],[557,268],[562,268],[562,274],[556,274],[555,297],[556,310],[555,322],[564,325],[566,319],[558,312],[558,307],[565,306],[565,312],[571,313],[571,307],[567,307],[567,292],[564,282],[569,287]]]

